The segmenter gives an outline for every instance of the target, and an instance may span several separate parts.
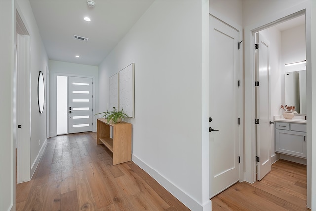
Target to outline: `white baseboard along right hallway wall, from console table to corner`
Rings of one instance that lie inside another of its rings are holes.
[[[211,211],[212,202],[209,200],[205,204],[201,205],[196,200],[191,198],[188,194],[183,192],[180,188],[170,182],[168,179],[164,178],[155,169],[148,166],[145,162],[139,159],[137,156],[132,155],[132,161],[137,164],[141,169],[146,171],[151,177],[153,177],[160,185],[162,185],[167,191],[169,191],[174,197],[176,197],[180,202],[187,206],[193,211]]]

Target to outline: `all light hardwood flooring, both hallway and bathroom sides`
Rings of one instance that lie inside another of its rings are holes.
[[[187,211],[133,162],[112,165],[96,133],[50,138],[31,181],[16,186],[17,211]],[[306,166],[279,160],[261,181],[212,198],[213,211],[310,211]]]

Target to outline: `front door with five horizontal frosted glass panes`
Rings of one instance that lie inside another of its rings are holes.
[[[92,78],[68,77],[68,133],[92,131]]]

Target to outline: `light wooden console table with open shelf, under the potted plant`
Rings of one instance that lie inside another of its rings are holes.
[[[113,127],[113,138],[110,129]],[[132,124],[127,122],[108,123],[97,120],[97,144],[104,144],[113,153],[113,165],[132,160]]]

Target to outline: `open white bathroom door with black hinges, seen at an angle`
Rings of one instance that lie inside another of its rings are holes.
[[[257,142],[257,179],[261,180],[271,171],[270,153],[270,65],[269,65],[269,41],[260,33],[257,33],[256,50],[256,142]]]

